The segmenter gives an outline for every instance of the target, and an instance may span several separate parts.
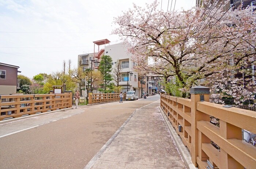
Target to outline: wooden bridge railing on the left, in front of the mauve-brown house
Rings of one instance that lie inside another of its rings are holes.
[[[72,107],[72,92],[65,94],[0,95],[0,120],[68,107]]]

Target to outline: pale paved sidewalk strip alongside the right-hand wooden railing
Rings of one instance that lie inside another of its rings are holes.
[[[85,169],[186,168],[158,106],[137,109]]]

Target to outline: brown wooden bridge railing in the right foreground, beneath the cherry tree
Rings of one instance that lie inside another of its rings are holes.
[[[256,147],[242,141],[242,129],[256,133],[254,111],[210,103],[209,94],[191,94],[191,99],[161,94],[161,107],[199,169],[209,163],[219,169],[256,168]],[[219,119],[219,127],[210,116]]]

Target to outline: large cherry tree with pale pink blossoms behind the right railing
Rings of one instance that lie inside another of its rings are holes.
[[[223,11],[225,1],[204,2],[207,8],[182,12],[158,11],[157,1],[146,8],[134,4],[114,19],[118,27],[112,33],[129,45],[138,72],[161,74],[166,82],[175,76],[184,92],[205,79],[215,96],[250,100],[255,85],[241,85],[236,74],[255,64],[255,12],[251,7]]]

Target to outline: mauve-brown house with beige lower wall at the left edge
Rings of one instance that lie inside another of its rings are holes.
[[[18,76],[19,66],[0,63],[0,95],[9,95],[16,93],[19,88]]]

